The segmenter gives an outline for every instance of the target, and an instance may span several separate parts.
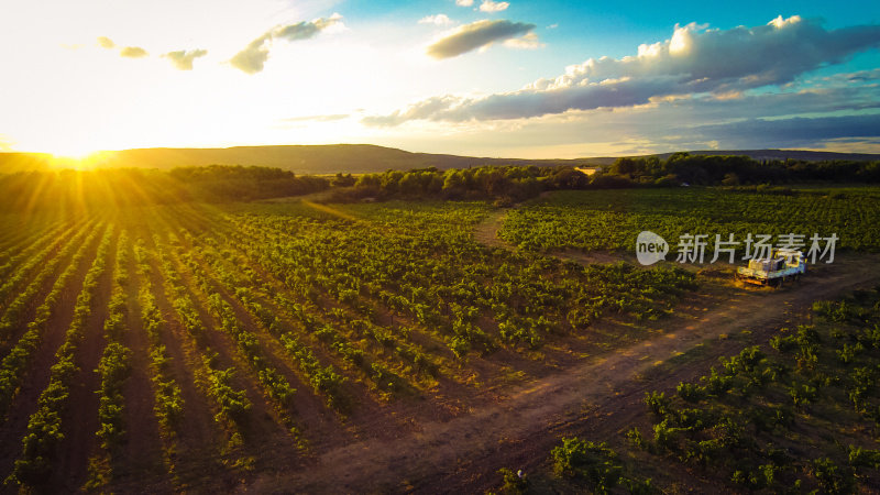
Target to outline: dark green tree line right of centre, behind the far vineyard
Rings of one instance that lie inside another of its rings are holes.
[[[373,198],[492,199],[514,202],[546,190],[617,189],[630,187],[758,186],[789,183],[880,183],[880,162],[800,160],[758,161],[748,156],[674,153],[620,157],[606,169],[574,166],[477,166],[440,170],[435,167],[387,170],[360,177],[342,176],[330,196],[333,201]],[[765,189],[767,190],[766,186]]]

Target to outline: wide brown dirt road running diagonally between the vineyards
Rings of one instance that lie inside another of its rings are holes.
[[[504,210],[484,222],[477,240],[503,245],[492,232]],[[488,226],[488,227],[485,227]],[[491,234],[491,235],[490,235]],[[717,356],[763,343],[778,328],[803,318],[816,299],[870,287],[880,282],[880,258],[840,256],[833,266],[778,292],[738,290],[705,308],[702,316],[663,320],[666,330],[629,348],[609,352],[556,375],[515,389],[506,399],[444,422],[425,422],[397,439],[363,441],[324,452],[312,466],[279,476],[263,476],[246,486],[255,492],[308,493],[475,493],[498,483],[502,466],[527,472],[547,459],[559,437],[590,432],[612,437],[644,415],[649,389],[669,389],[706,373]],[[727,339],[744,330],[750,341]],[[715,342],[698,358],[671,373],[640,375],[657,362]]]

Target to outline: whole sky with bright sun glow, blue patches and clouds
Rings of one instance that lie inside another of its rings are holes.
[[[0,151],[880,153],[876,0],[0,6]]]

